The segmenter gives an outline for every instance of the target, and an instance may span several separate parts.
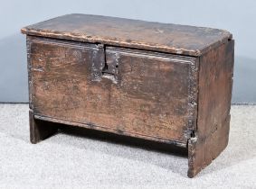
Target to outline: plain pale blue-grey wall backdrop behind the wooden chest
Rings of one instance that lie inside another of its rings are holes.
[[[256,1],[43,0],[0,2],[0,102],[28,101],[23,26],[62,14],[101,14],[231,31],[235,39],[232,103],[256,103]]]

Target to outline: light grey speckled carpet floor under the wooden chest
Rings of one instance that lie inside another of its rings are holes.
[[[33,145],[27,104],[0,104],[0,188],[256,188],[256,106],[233,105],[228,147],[193,179],[186,157],[69,132]]]

